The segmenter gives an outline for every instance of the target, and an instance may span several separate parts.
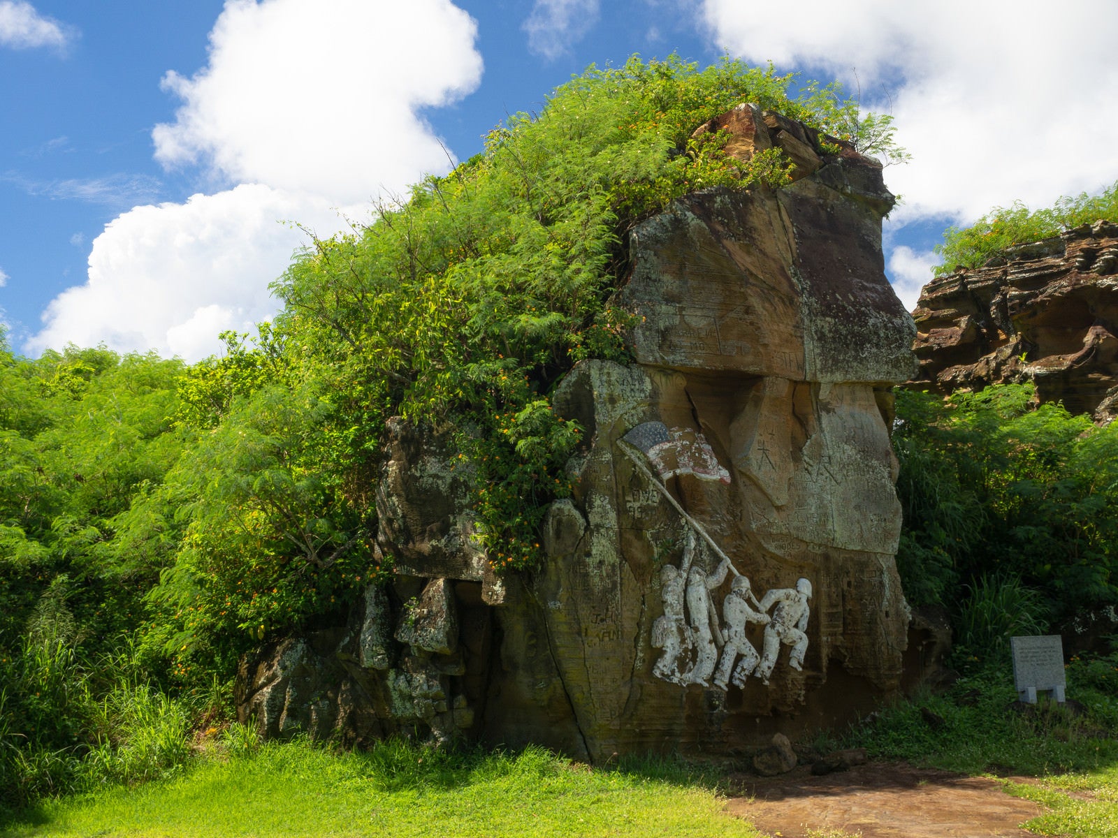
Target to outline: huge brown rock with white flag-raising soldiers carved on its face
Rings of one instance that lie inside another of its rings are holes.
[[[394,422],[395,583],[246,658],[245,717],[600,760],[728,753],[897,688],[889,388],[915,330],[883,274],[893,199],[877,163],[798,123],[742,105],[700,131],[720,127],[741,156],[785,149],[796,180],[692,194],[633,232],[615,303],[643,318],[635,363],[585,361],[553,396],[586,434],[538,570],[493,573],[444,441]]]

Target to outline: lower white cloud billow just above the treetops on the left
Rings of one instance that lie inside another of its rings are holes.
[[[208,355],[226,328],[252,331],[275,312],[268,284],[303,236],[277,219],[333,228],[337,213],[260,184],[186,203],[135,207],[93,240],[89,278],[56,297],[28,347],[104,341],[123,352]]]

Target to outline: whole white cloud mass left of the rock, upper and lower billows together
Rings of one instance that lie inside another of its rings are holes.
[[[88,282],[50,303],[25,351],[103,341],[192,361],[220,331],[268,318],[268,284],[307,244],[278,220],[329,237],[370,199],[449,168],[421,109],[477,86],[476,34],[448,0],[227,0],[207,66],[164,77],[182,104],[152,137],[164,165],[231,188],[108,223]]]

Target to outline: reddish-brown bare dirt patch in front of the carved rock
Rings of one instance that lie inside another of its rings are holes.
[[[739,788],[726,811],[783,838],[805,838],[808,829],[862,838],[1035,838],[1018,825],[1043,811],[994,780],[903,764],[825,777],[805,765],[768,779],[742,775]]]

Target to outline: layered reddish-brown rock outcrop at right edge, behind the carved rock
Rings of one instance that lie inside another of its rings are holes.
[[[1098,421],[1118,413],[1118,225],[1083,225],[934,279],[913,317],[913,387],[1031,381],[1042,402]]]

